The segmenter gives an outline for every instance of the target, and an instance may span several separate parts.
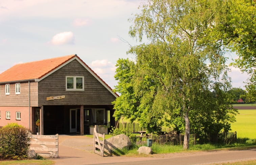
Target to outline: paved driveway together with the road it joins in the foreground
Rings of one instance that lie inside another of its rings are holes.
[[[59,136],[59,157],[55,165],[207,165],[256,160],[256,147],[248,150],[215,150],[154,154],[149,157],[100,157],[92,153],[92,138]]]

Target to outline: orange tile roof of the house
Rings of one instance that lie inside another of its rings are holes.
[[[76,55],[16,64],[0,74],[0,82],[39,79]]]

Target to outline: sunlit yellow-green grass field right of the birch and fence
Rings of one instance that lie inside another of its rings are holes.
[[[256,139],[256,109],[238,110],[236,122],[231,123],[232,131],[237,132],[237,138]]]

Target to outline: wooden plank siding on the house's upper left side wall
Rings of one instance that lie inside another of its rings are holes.
[[[15,94],[15,83],[9,84],[9,95],[5,95],[5,84],[0,85],[0,106],[28,107],[28,82],[20,83],[20,94]],[[38,106],[38,82],[30,82],[30,106]]]

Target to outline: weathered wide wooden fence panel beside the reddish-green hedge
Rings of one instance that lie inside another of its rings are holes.
[[[59,135],[32,135],[30,150],[42,157],[59,157]]]

